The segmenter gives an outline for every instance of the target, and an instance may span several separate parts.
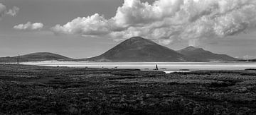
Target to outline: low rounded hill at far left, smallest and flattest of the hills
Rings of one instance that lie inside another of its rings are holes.
[[[13,57],[1,57],[0,62],[17,62],[18,56]],[[58,60],[58,61],[72,61],[73,59],[70,59],[65,56],[61,56],[59,54],[53,54],[48,52],[38,52],[38,53],[32,53],[32,54],[26,54],[19,57],[20,62],[26,62],[26,61],[50,61],[50,60]]]

